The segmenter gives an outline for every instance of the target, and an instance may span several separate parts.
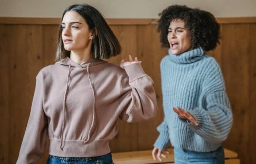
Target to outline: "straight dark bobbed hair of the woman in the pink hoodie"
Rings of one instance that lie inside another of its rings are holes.
[[[92,30],[94,35],[92,45],[94,58],[108,59],[121,53],[121,46],[116,36],[97,9],[88,4],[71,5],[63,12],[61,22],[65,13],[68,11],[75,11],[79,13],[87,23],[89,30]],[[61,33],[62,27],[60,23],[59,34],[57,36],[57,51],[55,55],[56,62],[66,56],[70,57],[70,51],[67,51],[64,48]]]

